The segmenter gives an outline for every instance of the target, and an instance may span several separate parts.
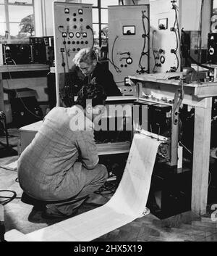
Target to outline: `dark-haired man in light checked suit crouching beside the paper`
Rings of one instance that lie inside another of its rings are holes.
[[[106,94],[98,85],[84,86],[75,105],[54,107],[18,161],[20,187],[44,202],[44,218],[69,217],[88,195],[105,183],[108,172],[98,164],[93,127],[105,110]]]

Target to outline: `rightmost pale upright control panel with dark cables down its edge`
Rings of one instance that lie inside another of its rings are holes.
[[[150,1],[150,73],[179,72],[179,0]]]

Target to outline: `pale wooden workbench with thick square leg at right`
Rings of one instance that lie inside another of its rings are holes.
[[[182,73],[158,73],[129,76],[129,79],[137,86],[139,98],[144,94],[153,95],[160,104],[162,97],[174,99],[176,90],[182,87],[179,80],[173,79],[179,75]],[[202,215],[207,207],[212,97],[217,96],[217,83],[184,83],[183,88],[182,104],[195,107],[192,211]]]

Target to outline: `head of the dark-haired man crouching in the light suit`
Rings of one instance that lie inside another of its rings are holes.
[[[96,117],[101,117],[105,111],[106,94],[103,87],[90,83],[88,86],[83,86],[77,95],[75,104],[82,106],[85,110],[85,115],[90,120],[96,120]]]

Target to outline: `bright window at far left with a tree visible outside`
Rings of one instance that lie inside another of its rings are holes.
[[[35,35],[34,0],[0,0],[0,42],[25,43]]]

